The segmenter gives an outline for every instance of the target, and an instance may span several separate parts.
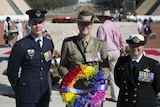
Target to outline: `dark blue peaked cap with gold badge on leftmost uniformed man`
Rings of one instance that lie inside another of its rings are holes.
[[[38,9],[38,8],[26,11],[26,14],[29,15],[29,20],[34,21],[34,22],[44,21],[46,13],[47,13],[47,10]]]

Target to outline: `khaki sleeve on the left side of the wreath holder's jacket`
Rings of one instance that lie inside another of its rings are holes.
[[[61,49],[61,60],[60,60],[60,67],[59,67],[59,74],[63,78],[68,72],[68,59],[67,59],[67,42],[64,39],[63,44],[62,44],[62,49]]]

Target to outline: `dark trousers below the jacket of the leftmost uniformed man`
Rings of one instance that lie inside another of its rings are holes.
[[[38,103],[26,103],[16,100],[16,107],[49,107],[50,90],[41,97]]]

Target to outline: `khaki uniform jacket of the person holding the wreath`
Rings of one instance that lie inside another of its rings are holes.
[[[82,50],[82,53],[80,52],[80,49],[78,49],[78,46]],[[82,55],[85,52],[100,52],[102,60],[100,62],[85,63]],[[62,77],[71,69],[81,65],[91,65],[98,70],[103,69],[105,72],[108,72],[107,50],[104,41],[91,36],[85,52],[79,36],[69,37],[63,41],[59,68]]]

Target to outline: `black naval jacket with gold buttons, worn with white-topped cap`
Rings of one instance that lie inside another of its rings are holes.
[[[139,75],[141,71],[154,74],[153,79],[147,82],[138,79],[142,76]],[[156,107],[156,94],[160,91],[160,64],[157,61],[142,56],[136,71],[132,73],[131,57],[120,57],[114,76],[120,88],[117,107]]]

